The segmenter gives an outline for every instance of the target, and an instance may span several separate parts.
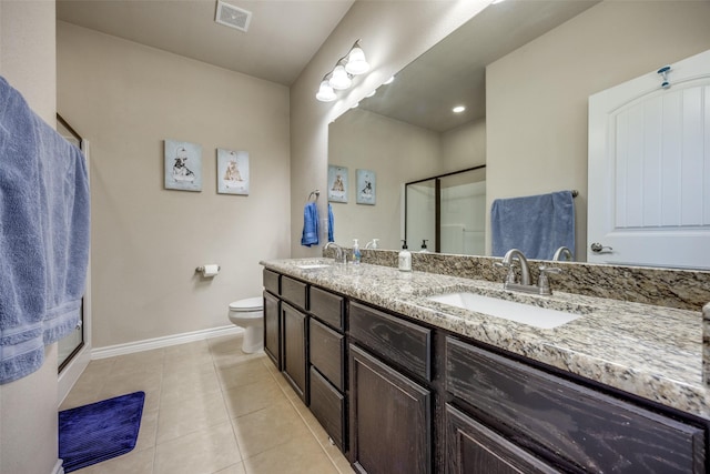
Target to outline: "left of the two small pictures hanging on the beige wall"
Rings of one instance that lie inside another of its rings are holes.
[[[166,190],[202,191],[202,145],[164,140],[164,178]]]

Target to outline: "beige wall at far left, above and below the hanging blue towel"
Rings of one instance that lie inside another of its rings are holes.
[[[54,2],[0,2],[0,74],[54,124]],[[51,473],[58,462],[57,344],[39,371],[0,385],[0,472]]]

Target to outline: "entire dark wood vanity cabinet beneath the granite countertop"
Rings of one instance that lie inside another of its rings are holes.
[[[294,385],[287,347],[298,347],[306,361],[298,370],[308,369],[304,400],[357,472],[710,467],[707,420],[306,281],[287,283],[303,289],[296,307],[288,280],[281,276],[281,294],[265,306],[280,304],[282,324],[298,327],[281,332],[284,375]]]

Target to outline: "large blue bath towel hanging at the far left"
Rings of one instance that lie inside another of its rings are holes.
[[[81,151],[0,77],[0,384],[77,326],[89,261]]]

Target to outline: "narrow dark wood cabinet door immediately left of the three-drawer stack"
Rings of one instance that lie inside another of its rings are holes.
[[[306,324],[307,317],[295,307],[281,303],[282,347],[284,376],[296,391],[301,400],[308,404],[307,392],[307,354]]]

